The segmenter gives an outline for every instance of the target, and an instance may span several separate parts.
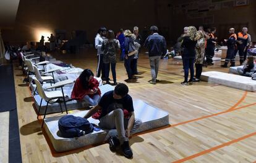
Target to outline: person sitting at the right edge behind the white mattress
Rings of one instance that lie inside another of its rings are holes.
[[[253,56],[247,57],[247,62],[244,63],[243,68],[237,68],[237,71],[239,74],[241,74],[242,76],[249,76],[249,77],[252,77],[252,74],[255,72],[255,70],[256,70],[256,65],[254,63]]]

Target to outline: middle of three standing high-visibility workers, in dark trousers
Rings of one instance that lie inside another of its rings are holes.
[[[234,54],[235,47],[236,47],[236,41],[237,41],[237,36],[235,33],[234,28],[229,29],[229,39],[224,39],[224,41],[227,43],[228,50],[227,50],[227,55],[226,55],[226,60],[224,65],[221,65],[221,67],[227,68],[228,63],[231,62],[231,66],[235,66],[235,57],[236,55]]]

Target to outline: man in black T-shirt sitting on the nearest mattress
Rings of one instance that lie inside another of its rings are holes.
[[[121,145],[125,157],[132,157],[129,146],[129,137],[137,130],[142,122],[135,119],[132,97],[128,95],[129,89],[126,84],[119,83],[114,90],[106,92],[98,105],[90,109],[84,116],[86,119],[93,116],[99,119],[99,126],[103,129],[116,129],[117,135],[109,139],[109,148],[114,151]],[[95,113],[98,117],[95,117]]]

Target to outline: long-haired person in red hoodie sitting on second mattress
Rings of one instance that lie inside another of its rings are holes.
[[[75,81],[71,98],[75,100],[85,100],[89,105],[95,106],[100,100],[99,82],[93,78],[93,72],[89,69],[83,70],[79,78]]]

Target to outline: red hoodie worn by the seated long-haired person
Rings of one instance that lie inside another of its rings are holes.
[[[83,89],[83,85],[82,82],[80,81],[79,78],[77,78],[77,80],[75,81],[72,93],[71,93],[71,98],[75,99],[75,100],[83,100],[83,97],[85,97],[85,95],[88,95],[89,97],[93,97],[93,95],[90,95],[89,92],[90,90],[95,90],[98,89],[98,91],[96,92],[96,94],[101,95],[100,89],[99,89],[99,82],[95,79],[92,78],[89,82],[89,88]]]

